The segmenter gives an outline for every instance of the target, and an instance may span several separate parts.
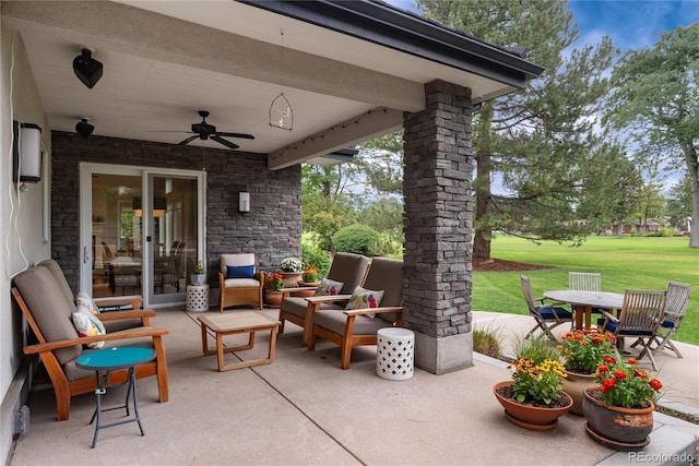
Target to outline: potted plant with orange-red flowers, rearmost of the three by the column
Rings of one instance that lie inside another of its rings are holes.
[[[561,336],[558,345],[567,377],[564,390],[572,396],[570,413],[582,416],[582,392],[595,385],[595,373],[605,356],[614,354],[615,337],[601,328],[577,330]]]

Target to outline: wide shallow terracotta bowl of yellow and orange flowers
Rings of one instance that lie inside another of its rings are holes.
[[[493,392],[505,408],[505,416],[516,426],[531,430],[550,430],[572,406],[572,398],[561,390],[566,377],[555,348],[542,351],[544,343],[519,345],[512,361],[512,380],[499,382]]]

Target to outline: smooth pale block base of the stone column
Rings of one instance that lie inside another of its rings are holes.
[[[473,333],[435,338],[415,332],[415,366],[440,375],[473,366]]]

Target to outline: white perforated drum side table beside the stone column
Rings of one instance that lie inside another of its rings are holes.
[[[388,380],[413,377],[415,334],[407,328],[387,327],[377,332],[376,373]]]

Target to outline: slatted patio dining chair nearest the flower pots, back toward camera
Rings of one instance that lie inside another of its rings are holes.
[[[614,334],[617,340],[625,337],[637,338],[637,342],[643,345],[638,359],[640,360],[648,355],[653,370],[657,370],[657,366],[650,345],[655,339],[657,327],[663,322],[665,295],[665,290],[627,289],[624,292],[624,304],[618,319],[603,310],[604,318],[597,320],[597,326]],[[618,347],[617,344],[614,350],[617,358],[620,358]]]

